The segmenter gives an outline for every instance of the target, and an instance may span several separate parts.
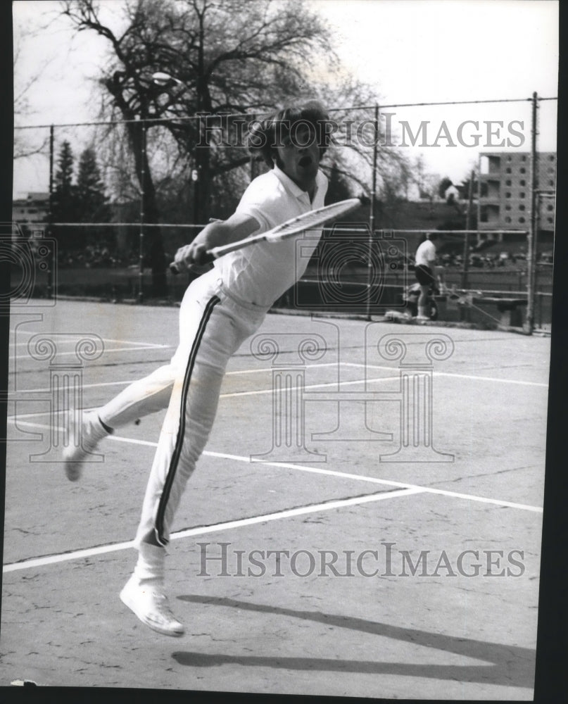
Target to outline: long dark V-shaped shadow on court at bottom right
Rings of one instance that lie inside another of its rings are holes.
[[[455,638],[412,628],[401,628],[377,621],[328,614],[319,611],[254,604],[236,599],[187,595],[180,601],[237,608],[258,613],[270,613],[313,621],[326,626],[348,628],[362,633],[391,638],[415,646],[477,658],[489,665],[418,665],[408,662],[376,662],[371,660],[336,660],[331,658],[280,658],[257,655],[207,655],[177,651],[172,658],[179,665],[190,667],[217,667],[219,665],[243,665],[247,667],[272,667],[284,670],[321,670],[327,672],[358,672],[360,674],[395,674],[402,677],[429,677],[462,682],[480,682],[516,687],[534,686],[535,650],[518,646],[503,646],[465,638]]]

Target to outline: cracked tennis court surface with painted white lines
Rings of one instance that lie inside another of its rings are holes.
[[[531,700],[550,339],[268,315],[177,513],[172,639],[118,598],[164,414],[76,484],[59,453],[177,314],[11,319],[0,684]]]

